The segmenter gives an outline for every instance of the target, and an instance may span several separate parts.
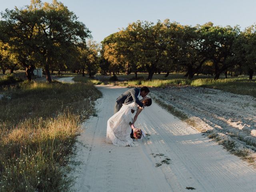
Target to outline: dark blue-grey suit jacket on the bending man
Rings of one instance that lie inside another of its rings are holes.
[[[124,92],[122,95],[120,95],[116,99],[116,102],[117,102],[117,104],[123,104],[123,103],[127,104],[127,103],[134,101],[140,107],[143,107],[143,103],[140,102],[140,100],[138,99],[139,93],[140,93],[139,88],[131,88],[131,89],[127,90],[126,92]]]

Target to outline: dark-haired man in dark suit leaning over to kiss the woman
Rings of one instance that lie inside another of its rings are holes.
[[[139,96],[146,97],[147,94],[149,93],[149,89],[147,87],[142,87],[140,88],[131,88],[124,92],[122,95],[120,95],[116,99],[116,104],[114,108],[114,114],[117,113],[123,104],[130,103],[132,101],[136,102],[140,107],[143,107],[143,103],[140,102]]]

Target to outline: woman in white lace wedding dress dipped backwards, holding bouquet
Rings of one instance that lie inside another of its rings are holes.
[[[152,104],[151,98],[148,97],[143,98],[141,102],[144,106],[150,106]],[[141,132],[141,130],[129,125],[129,122],[132,119],[131,110],[137,110],[132,122],[132,124],[134,124],[138,115],[143,110],[143,107],[138,106],[136,102],[123,104],[120,111],[109,118],[107,126],[107,143],[114,144],[116,146],[136,146],[130,137],[131,128],[134,132],[134,138],[138,138],[136,135],[138,132]]]

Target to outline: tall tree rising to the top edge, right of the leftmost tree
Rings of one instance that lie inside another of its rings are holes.
[[[44,3],[41,9],[44,16],[38,26],[38,34],[42,40],[38,51],[44,58],[42,66],[46,79],[51,82],[50,68],[54,66],[54,54],[60,52],[63,46],[78,46],[84,43],[86,38],[90,37],[90,31],[77,20],[73,12],[56,0],[53,0],[52,4]]]

